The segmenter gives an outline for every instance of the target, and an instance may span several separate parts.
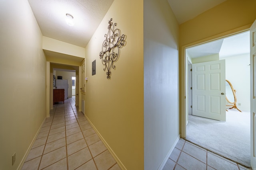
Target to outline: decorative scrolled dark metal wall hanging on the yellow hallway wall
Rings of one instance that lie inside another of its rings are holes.
[[[111,67],[114,69],[116,66],[114,62],[119,57],[120,48],[122,48],[126,41],[126,35],[121,35],[121,31],[115,28],[116,23],[112,23],[112,18],[108,21],[108,33],[105,34],[106,39],[102,44],[102,51],[100,51],[100,59],[102,64],[105,66],[104,71],[107,70],[107,78],[110,78]]]

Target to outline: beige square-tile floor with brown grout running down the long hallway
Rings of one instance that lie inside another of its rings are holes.
[[[22,170],[120,170],[72,98],[54,105]]]

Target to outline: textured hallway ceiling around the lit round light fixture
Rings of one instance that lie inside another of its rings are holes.
[[[28,0],[42,34],[86,47],[114,0]],[[74,26],[66,24],[66,13]]]

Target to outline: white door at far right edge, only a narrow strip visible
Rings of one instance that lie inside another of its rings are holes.
[[[256,20],[250,27],[251,166],[256,168]]]

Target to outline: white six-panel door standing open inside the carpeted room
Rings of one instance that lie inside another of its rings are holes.
[[[225,60],[192,64],[192,114],[226,121]]]

